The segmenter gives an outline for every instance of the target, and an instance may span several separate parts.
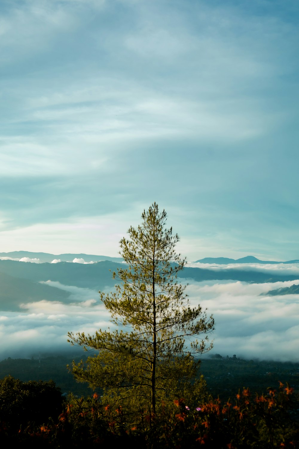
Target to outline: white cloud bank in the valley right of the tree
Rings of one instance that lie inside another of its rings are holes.
[[[222,356],[298,361],[299,295],[268,296],[297,281],[247,284],[196,282],[187,287],[191,304],[198,302],[215,318],[213,352]]]

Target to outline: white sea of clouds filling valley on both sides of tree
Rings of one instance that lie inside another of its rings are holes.
[[[274,283],[187,282],[190,305],[200,304],[215,319],[210,354],[299,361],[299,295],[261,295],[298,284],[299,277]],[[36,356],[39,351],[65,352],[70,349],[68,331],[93,334],[98,329],[115,329],[97,291],[46,283],[69,291],[71,303],[41,300],[22,304],[18,312],[0,312],[0,359]]]

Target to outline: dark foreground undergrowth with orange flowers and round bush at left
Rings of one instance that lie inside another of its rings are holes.
[[[8,376],[0,381],[0,442],[30,448],[298,448],[294,396],[282,383],[261,395],[243,388],[229,401],[204,396],[188,404],[179,398],[152,416],[112,406],[96,393],[64,400],[54,383]]]

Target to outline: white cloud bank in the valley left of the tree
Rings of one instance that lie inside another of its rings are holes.
[[[70,348],[67,332],[90,332],[108,326],[109,315],[99,301],[99,293],[59,282],[44,282],[71,293],[71,304],[37,301],[22,304],[20,312],[2,312],[0,338],[4,342],[0,358],[30,357],[32,353],[60,352]]]

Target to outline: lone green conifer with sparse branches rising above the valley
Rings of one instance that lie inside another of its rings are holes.
[[[200,306],[189,306],[186,286],[176,280],[186,259],[174,251],[179,238],[165,229],[166,212],[159,213],[154,202],[142,219],[137,229],[130,227],[130,239],[120,241],[128,265],[113,273],[120,282],[116,293],[100,292],[119,330],[69,333],[68,341],[97,350],[87,361],[73,362],[78,381],[103,388],[110,403],[114,398],[118,404],[134,403],[134,409],[149,406],[155,414],[162,401],[181,397],[187,384],[192,387],[199,363],[194,356],[212,348],[206,334],[214,319]]]

